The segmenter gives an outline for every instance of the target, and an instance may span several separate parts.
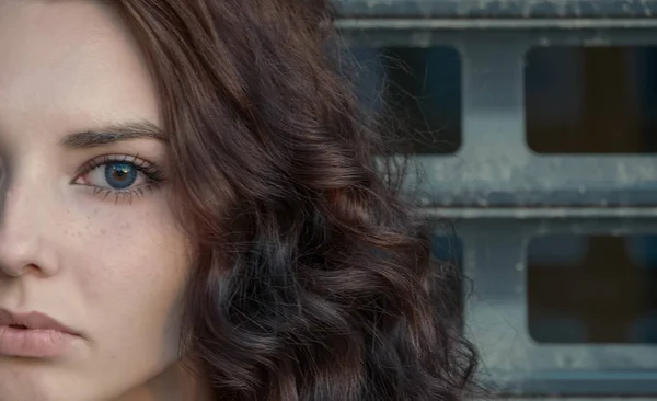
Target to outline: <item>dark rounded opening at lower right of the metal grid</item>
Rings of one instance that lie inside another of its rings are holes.
[[[657,342],[657,236],[540,237],[527,256],[537,342]]]

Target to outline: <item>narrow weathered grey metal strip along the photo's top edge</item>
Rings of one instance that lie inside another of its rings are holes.
[[[655,0],[337,0],[343,16],[652,18]]]

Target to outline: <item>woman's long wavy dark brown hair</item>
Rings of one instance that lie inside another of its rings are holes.
[[[185,353],[216,398],[462,399],[458,277],[374,158],[328,1],[111,3],[159,84],[196,245]]]

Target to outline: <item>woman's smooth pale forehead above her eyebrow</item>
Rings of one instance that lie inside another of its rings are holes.
[[[157,119],[139,47],[100,2],[0,0],[0,133],[26,122]]]

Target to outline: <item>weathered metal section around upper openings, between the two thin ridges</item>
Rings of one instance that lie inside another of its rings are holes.
[[[388,36],[387,36],[388,34]],[[452,156],[417,156],[425,172],[412,175],[426,207],[494,206],[654,206],[657,158],[620,154],[537,154],[528,149],[525,127],[523,68],[528,50],[548,45],[656,45],[657,30],[600,32],[560,30],[514,32],[381,31],[345,38],[372,46],[404,43],[449,44],[461,55],[463,145]]]

